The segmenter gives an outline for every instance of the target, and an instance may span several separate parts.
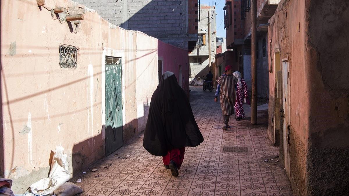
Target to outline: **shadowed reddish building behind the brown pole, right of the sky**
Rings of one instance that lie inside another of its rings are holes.
[[[280,0],[257,0],[257,93],[269,95],[268,20],[273,16]],[[226,0],[224,27],[227,32],[227,48],[236,52],[236,63],[251,91],[251,0]]]

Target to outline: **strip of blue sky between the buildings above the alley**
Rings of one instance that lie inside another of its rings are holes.
[[[214,6],[216,0],[200,0],[201,5],[206,4],[210,6]],[[224,22],[223,22],[223,7],[225,4],[225,0],[217,0],[216,3],[216,27],[217,27],[217,37],[225,37],[225,30],[224,30]]]

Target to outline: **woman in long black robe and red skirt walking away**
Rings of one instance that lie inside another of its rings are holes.
[[[203,142],[187,95],[176,76],[166,71],[150,102],[143,146],[151,154],[162,156],[166,168],[178,176],[186,146]]]

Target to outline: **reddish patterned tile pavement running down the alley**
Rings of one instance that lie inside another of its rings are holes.
[[[95,164],[98,171],[80,177],[82,182],[76,184],[84,190],[82,195],[291,195],[288,178],[275,163],[279,148],[266,138],[266,112],[259,112],[264,123],[252,126],[245,106],[247,119],[235,121],[232,116],[231,128],[223,131],[220,104],[213,102],[213,92],[200,87],[191,90],[192,110],[205,140],[186,148],[177,178],[164,168],[162,157],[144,150],[141,135]],[[223,152],[223,146],[247,147],[248,152]]]

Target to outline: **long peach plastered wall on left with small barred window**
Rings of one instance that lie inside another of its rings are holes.
[[[51,16],[56,7],[83,12],[67,0],[46,0],[41,10],[35,0],[1,2],[1,150],[3,172],[18,193],[47,177],[56,146],[64,147],[72,174],[105,156],[105,55],[122,58],[124,140],[145,125],[158,84],[158,55],[176,58],[183,72],[188,70],[185,50],[163,48],[157,39],[116,27],[90,9],[79,27],[70,29]],[[79,49],[76,69],[60,68],[60,44]]]

